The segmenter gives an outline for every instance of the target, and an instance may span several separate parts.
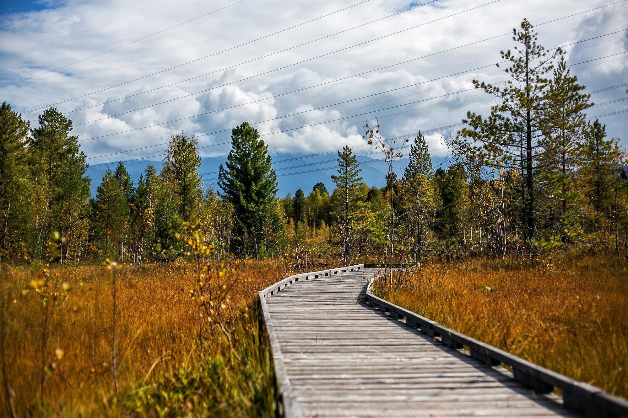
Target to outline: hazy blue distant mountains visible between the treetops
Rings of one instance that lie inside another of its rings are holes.
[[[287,193],[290,193],[294,196],[295,191],[298,189],[303,190],[303,193],[308,195],[312,187],[319,181],[325,183],[327,190],[331,192],[334,186],[330,176],[336,174],[336,158],[337,154],[335,152],[317,156],[276,154],[273,156],[273,168],[277,173],[277,181],[279,183],[277,195],[283,197],[286,196]],[[212,183],[217,188],[218,169],[220,164],[225,163],[226,159],[227,156],[202,158],[198,172],[203,174],[205,188],[208,188]],[[433,164],[443,163],[443,161],[445,161],[445,158],[432,159]],[[382,159],[375,159],[371,156],[358,156],[358,162],[362,169],[360,175],[364,183],[369,186],[384,186],[387,166]],[[408,159],[406,158],[396,162],[395,171],[399,168],[399,171],[397,171],[399,177],[403,175],[403,169],[406,163],[408,163]],[[92,178],[92,195],[95,195],[96,188],[100,184],[107,168],[111,168],[111,170],[114,171],[117,164],[117,161],[112,161],[107,165],[97,164],[87,169],[87,175]],[[137,185],[139,174],[144,173],[144,170],[149,164],[152,164],[157,171],[159,171],[162,166],[161,161],[149,160],[131,161],[124,165]],[[448,165],[448,163],[443,165]]]

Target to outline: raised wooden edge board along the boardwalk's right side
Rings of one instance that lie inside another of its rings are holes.
[[[372,280],[367,286],[365,301],[373,308],[387,313],[393,318],[403,320],[426,335],[440,338],[452,348],[468,348],[468,355],[486,363],[497,366],[501,363],[512,368],[514,378],[539,393],[549,393],[554,388],[563,392],[565,407],[583,412],[594,417],[628,417],[628,401],[604,392],[604,390],[578,382],[544,367],[523,360],[494,346],[482,343],[457,331],[442,326],[431,319],[425,318],[408,309],[390,303],[371,292]],[[466,351],[465,351],[466,352]]]

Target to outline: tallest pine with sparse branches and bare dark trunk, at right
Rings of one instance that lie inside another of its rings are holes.
[[[554,69],[557,48],[553,53],[537,43],[538,34],[527,19],[521,29],[512,29],[512,40],[519,45],[516,52],[501,51],[502,60],[511,67],[504,68],[512,80],[506,87],[474,80],[475,88],[495,97],[497,105],[491,108],[487,119],[468,112],[462,129],[463,136],[482,141],[496,166],[505,164],[521,171],[521,223],[529,254],[534,257],[533,235],[538,222],[538,159],[543,154],[543,133],[548,128],[548,94],[551,80],[547,74]],[[501,68],[501,65],[497,65]],[[534,258],[532,258],[534,260]]]

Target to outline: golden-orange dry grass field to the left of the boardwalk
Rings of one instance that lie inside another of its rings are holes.
[[[51,314],[46,364],[56,362],[57,368],[46,377],[43,409],[39,403],[43,308],[37,294],[30,291],[23,296],[22,291],[44,273],[42,269],[0,273],[6,285],[6,318],[10,321],[6,374],[20,416],[127,415],[129,411],[180,415],[187,410],[212,415],[212,408],[224,407],[221,402],[237,404],[232,405],[232,415],[246,415],[256,407],[272,410],[272,387],[268,385],[273,372],[268,353],[260,348],[264,339],[258,338],[255,308],[257,291],[288,274],[283,261],[247,262],[230,273],[236,284],[224,313],[230,329],[235,330],[236,350],[246,356],[241,365],[230,355],[217,327],[202,346],[198,343],[198,305],[190,297],[190,289],[197,287],[193,265],[119,267],[117,400],[111,372],[112,273],[103,267],[58,268],[50,273],[58,274],[60,282],[70,283],[72,290],[67,301]],[[63,351],[60,360],[55,355],[57,349]],[[234,383],[237,373],[249,373],[247,382]],[[217,399],[221,390],[231,390],[229,385],[233,384],[240,385],[236,388],[239,394],[225,393],[226,399]],[[247,391],[250,393],[242,393]],[[4,413],[6,396],[4,390],[0,392]],[[260,396],[264,399],[256,399]]]

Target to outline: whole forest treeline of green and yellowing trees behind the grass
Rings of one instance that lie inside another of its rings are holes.
[[[587,119],[593,103],[563,51],[540,46],[526,20],[513,35],[517,48],[502,51],[507,66],[498,65],[510,80],[474,81],[495,105],[485,116],[468,112],[466,127],[448,141],[448,168],[435,169],[422,134],[384,139],[377,122],[365,125],[365,140],[389,168],[382,188],[362,181],[345,146],[333,190],[317,182],[278,198],[268,146],[244,122],[232,131],[216,188],[198,174],[197,140],[181,132],[171,137],[161,170],[148,166],[134,182],[120,162],[92,197],[72,121],[50,108],[32,128],[3,103],[0,257],[42,262],[55,247],[55,260],[71,265],[176,260],[187,248],[177,237],[194,219],[215,257],[534,260],[578,246],[625,259],[625,150]],[[404,169],[396,169],[406,157]]]

